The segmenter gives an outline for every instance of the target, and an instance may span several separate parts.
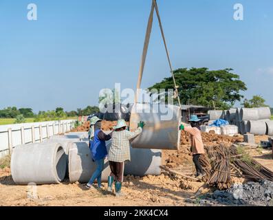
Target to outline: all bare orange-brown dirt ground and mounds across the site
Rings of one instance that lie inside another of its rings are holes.
[[[109,130],[115,122],[103,122],[103,129]],[[86,131],[85,124],[80,131]],[[205,145],[219,144],[219,142],[242,142],[243,137],[229,137],[203,133]],[[267,136],[256,136],[256,142],[267,140]],[[273,170],[270,150],[261,148],[251,149],[250,155],[258,162]],[[168,168],[177,170],[185,175],[192,176],[195,167],[190,155],[190,137],[182,132],[182,140],[179,151],[163,151],[162,164]],[[236,179],[234,182],[241,182]],[[188,203],[186,199],[195,198],[195,192],[203,185],[201,181],[182,179],[178,175],[162,172],[160,176],[124,178],[122,192],[124,197],[114,197],[106,192],[107,184],[103,184],[103,190],[86,190],[84,184],[69,184],[66,180],[58,185],[43,186],[17,186],[12,180],[10,168],[0,166],[0,206],[199,206],[196,203]],[[203,193],[212,189],[205,189]]]

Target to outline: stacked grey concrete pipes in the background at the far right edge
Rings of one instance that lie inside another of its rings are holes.
[[[228,110],[225,119],[237,125],[241,134],[273,135],[273,121],[270,117],[269,107],[237,108]]]

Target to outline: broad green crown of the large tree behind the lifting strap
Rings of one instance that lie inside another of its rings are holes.
[[[243,98],[241,91],[247,90],[245,83],[239,80],[239,75],[232,73],[232,69],[183,68],[175,70],[174,74],[182,104],[227,109]],[[149,89],[174,89],[173,78],[164,78]],[[174,101],[177,103],[177,100]]]

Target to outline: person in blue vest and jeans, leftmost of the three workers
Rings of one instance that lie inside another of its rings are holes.
[[[90,131],[89,131],[89,148],[91,150],[92,160],[96,163],[96,170],[91,176],[91,179],[86,185],[86,188],[95,188],[94,181],[97,179],[98,189],[101,186],[102,170],[105,166],[105,157],[107,156],[107,148],[105,141],[111,139],[111,133],[105,134],[101,130],[101,122],[98,117],[93,117],[90,120]],[[94,133],[93,133],[94,132]]]

